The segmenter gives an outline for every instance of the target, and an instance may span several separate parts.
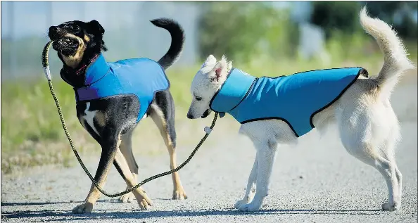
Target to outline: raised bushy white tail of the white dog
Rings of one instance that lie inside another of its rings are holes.
[[[375,80],[381,88],[381,93],[390,96],[398,78],[406,70],[414,68],[414,65],[407,58],[407,52],[395,30],[378,18],[370,18],[367,15],[366,7],[360,11],[360,24],[368,34],[376,39],[384,53],[384,65]]]

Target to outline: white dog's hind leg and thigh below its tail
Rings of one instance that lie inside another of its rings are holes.
[[[393,154],[399,129],[395,115],[384,106],[374,108],[379,109],[388,113],[382,113],[382,110],[373,113],[372,109],[362,113],[357,110],[356,115],[347,115],[343,119],[348,121],[341,122],[341,118],[337,120],[341,141],[348,153],[376,168],[384,177],[388,186],[388,203],[384,203],[382,208],[393,211],[400,208],[401,202],[402,174]]]

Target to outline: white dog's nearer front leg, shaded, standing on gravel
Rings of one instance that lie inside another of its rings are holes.
[[[261,208],[262,202],[267,196],[270,176],[272,174],[272,168],[274,158],[276,155],[277,145],[267,143],[267,141],[259,141],[254,143],[257,148],[257,183],[254,198],[251,203],[243,204],[239,207],[239,210],[243,211],[255,211]]]

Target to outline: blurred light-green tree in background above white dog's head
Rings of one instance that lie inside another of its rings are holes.
[[[289,13],[263,2],[211,1],[198,21],[201,58],[227,55],[246,63],[251,58],[296,53],[297,26]]]

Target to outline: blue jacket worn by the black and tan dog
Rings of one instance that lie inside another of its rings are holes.
[[[100,54],[87,67],[84,86],[74,90],[77,102],[134,94],[139,100],[139,122],[156,92],[169,87],[164,69],[154,60],[133,58],[108,63]]]

